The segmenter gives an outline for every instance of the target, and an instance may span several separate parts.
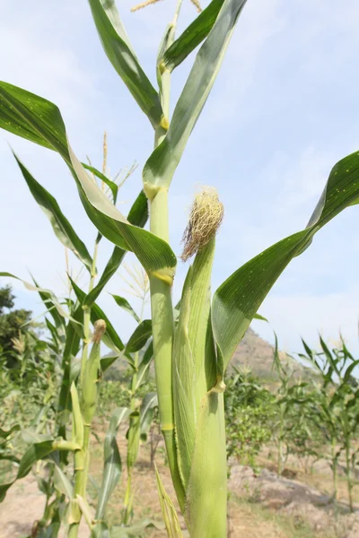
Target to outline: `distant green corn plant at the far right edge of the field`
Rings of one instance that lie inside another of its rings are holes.
[[[349,507],[354,511],[353,488],[358,450],[355,438],[359,427],[359,382],[354,377],[359,360],[348,351],[340,337],[340,343],[332,350],[320,336],[321,351],[313,351],[302,341],[305,353],[303,360],[320,375],[313,383],[314,402],[312,421],[325,434],[330,447],[329,460],[333,476],[333,499],[337,499],[337,469],[339,458],[344,456]]]

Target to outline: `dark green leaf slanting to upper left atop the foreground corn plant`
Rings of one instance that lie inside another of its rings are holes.
[[[160,99],[129,44],[115,1],[89,0],[89,3],[102,47],[110,63],[151,121],[153,128],[156,128],[162,121]]]

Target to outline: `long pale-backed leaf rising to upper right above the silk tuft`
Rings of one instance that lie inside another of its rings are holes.
[[[224,1],[212,30],[197,54],[174,109],[169,131],[144,165],[144,190],[150,197],[158,187],[168,188],[171,185],[188,137],[215,82],[244,4],[245,0]]]

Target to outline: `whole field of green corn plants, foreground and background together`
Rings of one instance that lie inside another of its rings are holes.
[[[46,478],[39,480],[45,509],[31,536],[56,537],[65,529],[66,536],[76,538],[84,521],[88,535],[97,538],[140,536],[153,527],[165,528],[171,537],[224,538],[229,461],[235,457],[256,466],[262,447],[272,443],[279,474],[284,473],[285,462],[295,450],[303,458],[328,459],[333,503],[340,461],[346,473],[349,508],[354,510],[359,423],[355,368],[359,360],[346,343],[342,340],[330,350],[321,339],[321,350],[313,351],[303,342],[299,359],[306,360],[315,372],[310,380],[293,376],[276,343],[276,395],[250,371],[231,369],[231,360],[251,321],[266,323],[258,310],[286,266],[307,248],[315,248],[311,243],[322,227],[359,202],[359,152],[334,163],[328,178],[323,178],[322,195],[302,230],[258,253],[211,291],[215,239],[225,219],[220,187],[216,178],[207,178],[214,185],[196,195],[180,256],[170,244],[170,187],[172,179],[180,181],[175,176],[182,154],[220,76],[247,2],[212,0],[177,35],[179,0],[158,39],[155,85],[139,63],[114,0],[89,0],[88,4],[110,64],[153,127],[153,150],[142,169],[143,185],[124,216],[118,209],[118,193],[136,166],[118,178],[110,176],[106,135],[100,169],[82,161],[71,146],[72,134],[55,103],[11,82],[0,82],[0,127],[39,144],[44,152],[57,152],[95,228],[89,250],[55,197],[32,176],[21,156],[13,153],[31,195],[66,253],[71,252],[83,265],[87,282],[83,289],[67,266],[68,292],[59,298],[42,288],[36,275],[28,282],[2,268],[0,276],[20,280],[28,291],[39,295],[47,336],[41,338],[36,330],[20,332],[13,340],[12,355],[5,351],[1,355],[2,384],[19,392],[13,396],[4,392],[7,411],[0,430],[0,456],[7,471],[0,499],[42,462],[48,469]],[[195,51],[196,56],[191,54]],[[182,63],[190,65],[188,78],[177,102],[171,103],[171,75]],[[113,245],[113,252],[100,268],[98,253],[103,240]],[[130,299],[116,290],[113,293],[118,315],[126,314],[136,322],[135,331],[124,343],[98,299],[124,267],[127,252],[136,256],[137,265],[127,267],[126,278],[142,306],[136,311]],[[188,269],[180,302],[173,304],[176,267],[181,263]],[[151,306],[148,319],[144,318],[147,301]],[[115,394],[109,397],[112,405],[104,407],[101,399],[104,401],[106,393],[101,393],[101,387],[107,383],[106,373],[119,361],[127,365],[126,397],[123,403],[113,402],[120,399]],[[36,412],[34,407],[25,419],[25,395],[30,386],[37,391],[38,404]],[[102,442],[103,470],[97,498],[90,501],[91,440],[97,435],[100,412],[109,413]],[[176,499],[165,490],[161,472],[155,468],[162,521],[137,520],[136,462],[155,423],[161,431]],[[123,463],[116,440],[125,424],[126,482],[121,481]],[[124,490],[124,502],[117,509],[118,524],[112,525],[107,507],[117,487]]]

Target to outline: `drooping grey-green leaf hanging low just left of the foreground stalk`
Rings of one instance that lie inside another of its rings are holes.
[[[109,421],[109,430],[106,433],[103,447],[104,466],[99,499],[97,501],[96,508],[95,519],[97,520],[101,520],[104,518],[106,505],[109,502],[109,498],[121,477],[121,456],[118,452],[116,436],[121,421],[125,421],[128,415],[129,410],[127,409],[127,407],[118,407],[112,413],[112,416]]]

